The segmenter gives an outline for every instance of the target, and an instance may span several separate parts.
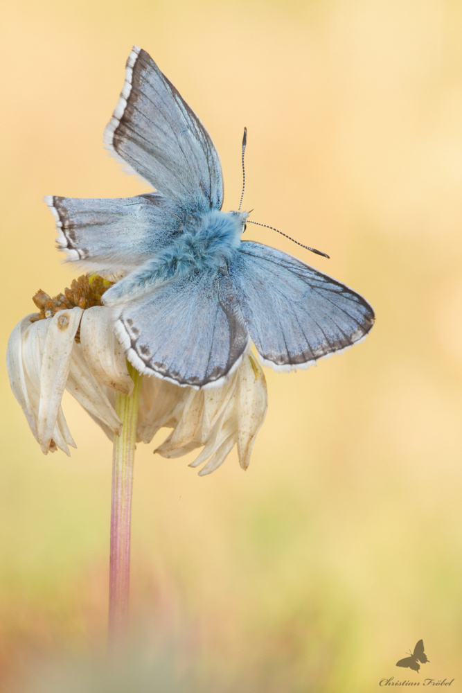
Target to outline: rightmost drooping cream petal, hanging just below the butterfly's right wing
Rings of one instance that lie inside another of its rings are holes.
[[[247,469],[256,435],[268,407],[265,375],[251,354],[242,360],[238,393],[238,455],[240,466]]]

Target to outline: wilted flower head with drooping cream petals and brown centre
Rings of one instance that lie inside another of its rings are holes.
[[[51,299],[39,291],[39,313],[24,317],[10,335],[7,350],[12,391],[42,452],[57,448],[70,455],[75,446],[62,412],[64,389],[87,410],[106,435],[120,435],[116,392],[130,396],[133,381],[111,313],[100,299],[111,282],[84,275]],[[155,376],[143,378],[137,440],[150,443],[160,428],[172,428],[154,450],[163,457],[202,451],[190,466],[214,471],[237,444],[240,466],[249,465],[251,448],[267,410],[265,376],[249,353],[222,387],[179,387]]]

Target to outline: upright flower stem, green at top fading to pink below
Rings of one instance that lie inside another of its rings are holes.
[[[119,650],[127,638],[130,586],[130,524],[132,519],[133,463],[139,396],[143,376],[127,362],[134,382],[131,397],[116,394],[116,414],[123,426],[114,436],[112,459],[111,554],[109,560],[109,649]]]

